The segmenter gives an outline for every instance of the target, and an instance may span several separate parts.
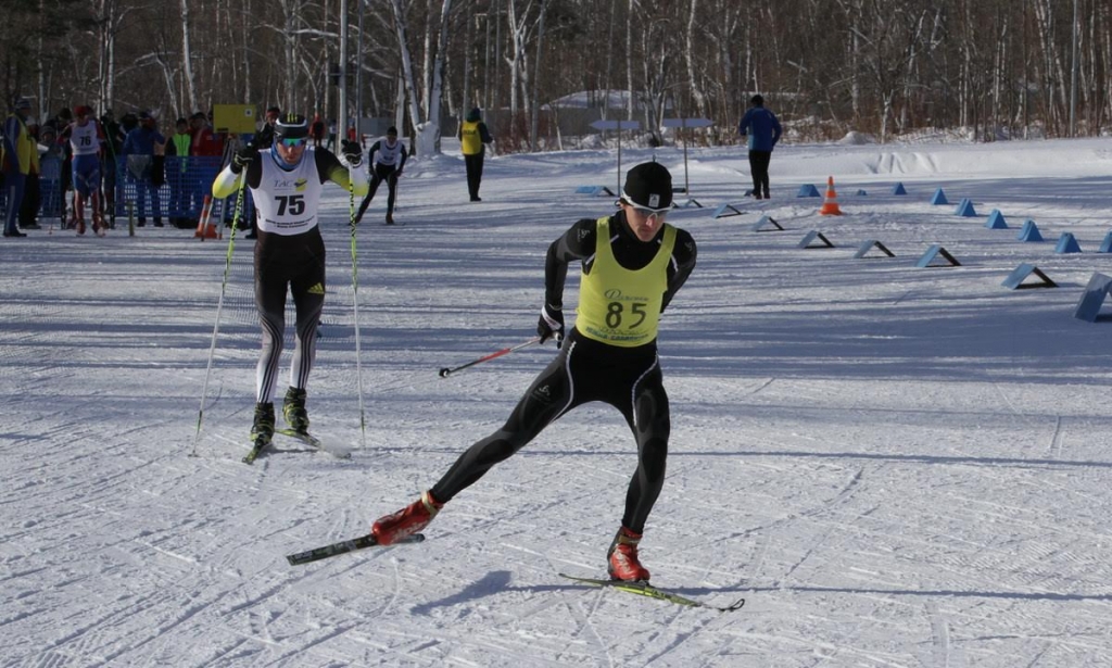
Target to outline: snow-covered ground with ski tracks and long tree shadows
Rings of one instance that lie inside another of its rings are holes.
[[[623,151],[624,167],[651,157]],[[116,230],[0,241],[0,665],[1073,668],[1112,664],[1109,322],[1073,318],[1112,229],[1106,140],[785,146],[739,202],[737,149],[689,156],[699,263],[662,323],[668,479],[654,584],[742,611],[578,586],[602,576],[634,467],[586,407],[461,493],[423,546],[291,568],[367,532],[500,425],[553,349],[440,379],[532,336],[545,249],[612,199],[614,152],[406,170],[358,236],[359,429],[347,197],[329,190],[315,431],[247,449],[258,333],[235,248],[203,427],[225,242]],[[657,158],[683,182],[681,151]],[[834,176],[841,218],[801,185]],[[906,196],[891,189],[902,182]],[[976,218],[954,205],[973,200]],[[864,189],[866,196],[855,192]],[[1011,229],[984,227],[1000,209]],[[762,210],[784,231],[752,231]],[[1048,241],[1016,240],[1033,219]],[[801,249],[821,230],[831,249]],[[1074,232],[1083,253],[1056,255]],[[853,259],[866,239],[875,251]],[[941,243],[961,267],[915,268]],[[1033,262],[1060,287],[1007,290]],[[568,296],[577,273],[569,277]],[[1112,306],[1110,306],[1112,308]]]

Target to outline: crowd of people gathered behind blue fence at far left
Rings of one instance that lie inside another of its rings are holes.
[[[163,225],[159,189],[166,185],[171,223],[196,225],[203,195],[220,169],[226,139],[212,131],[208,114],[198,111],[177,119],[167,137],[148,111],[129,112],[117,121],[111,110],[98,118],[80,104],[40,124],[31,108],[31,100],[19,99],[0,137],[4,237],[24,237],[22,230],[40,229],[40,217],[48,216],[83,233],[86,205],[91,205],[93,230],[102,232],[103,217],[115,218],[118,187],[123,185],[135,189],[140,227],[148,212],[156,227]]]

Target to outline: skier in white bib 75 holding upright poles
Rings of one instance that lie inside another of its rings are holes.
[[[326,181],[356,195],[367,192],[366,173],[358,169],[363,150],[345,142],[344,159],[326,149],[307,148],[309,124],[288,113],[275,123],[274,144],[264,153],[251,144],[239,149],[212,183],[212,197],[222,199],[244,185],[259,211],[255,243],[255,305],[262,323],[262,348],[256,369],[255,420],[251,439],[259,450],[275,432],[274,393],[278,362],[285,346],[286,292],[297,312],[296,347],[282,416],[291,429],[308,433],[306,387],[317,349],[317,323],[325,306],[325,242],[318,226],[318,206]]]

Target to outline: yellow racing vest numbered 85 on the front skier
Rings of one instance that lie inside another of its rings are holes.
[[[595,232],[595,261],[579,281],[575,328],[588,339],[634,348],[656,339],[668,289],[668,262],[676,245],[676,229],[664,226],[656,257],[642,269],[618,265],[610,249],[610,219],[599,218]]]

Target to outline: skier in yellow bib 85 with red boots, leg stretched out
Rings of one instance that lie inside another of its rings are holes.
[[[375,521],[371,534],[391,545],[425,528],[445,504],[508,459],[572,409],[589,401],[617,408],[637,441],[637,468],[622,526],[606,554],[618,580],[645,580],[637,546],[664,485],[668,397],[656,352],[661,313],[695,268],[695,240],[665,222],[672,175],[656,162],[626,173],[620,210],[583,219],[548,247],[545,303],[537,333],[559,353],[533,381],[506,423],[466,450],[440,480],[406,508]],[[578,317],[564,338],[564,282],[582,262]]]

